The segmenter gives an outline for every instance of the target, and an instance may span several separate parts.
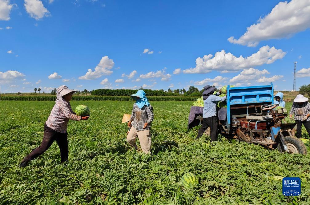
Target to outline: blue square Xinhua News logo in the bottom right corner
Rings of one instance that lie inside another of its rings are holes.
[[[284,177],[282,179],[282,194],[284,196],[299,196],[301,180],[299,177]]]

